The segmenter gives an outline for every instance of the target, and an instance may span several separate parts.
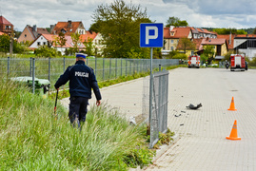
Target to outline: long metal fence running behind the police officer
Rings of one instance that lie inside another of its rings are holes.
[[[32,76],[34,68],[36,78],[48,79],[51,85],[54,85],[66,68],[74,63],[74,58],[0,58],[0,75]],[[94,69],[98,82],[102,82],[120,76],[148,72],[150,59],[89,58],[86,65]],[[177,66],[179,60],[153,59],[153,68],[158,68],[159,65],[163,67]],[[63,87],[68,87],[68,85]]]

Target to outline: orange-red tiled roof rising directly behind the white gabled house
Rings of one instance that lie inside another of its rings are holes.
[[[53,28],[51,33],[58,34],[61,31],[61,29],[65,29],[65,30],[67,30],[66,34],[71,35],[71,33],[74,33],[81,23],[82,22],[72,22],[72,21],[70,21],[71,25],[69,27],[69,22],[58,22],[56,24],[56,26]]]

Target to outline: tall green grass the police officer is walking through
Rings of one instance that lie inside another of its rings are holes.
[[[130,125],[107,104],[92,107],[82,130],[67,111],[7,79],[0,83],[1,170],[127,170],[153,153],[144,126]]]

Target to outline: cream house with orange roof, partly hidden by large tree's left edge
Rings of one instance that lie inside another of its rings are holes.
[[[88,42],[89,39],[91,39],[92,46],[94,47],[93,50],[96,51],[97,54],[102,55],[105,46],[103,45],[103,37],[101,33],[87,31],[86,34],[82,34],[80,37],[83,43]]]

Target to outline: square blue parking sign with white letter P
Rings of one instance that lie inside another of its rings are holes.
[[[140,25],[140,47],[163,47],[163,23],[142,23]]]

